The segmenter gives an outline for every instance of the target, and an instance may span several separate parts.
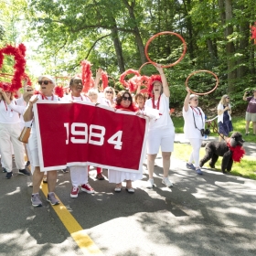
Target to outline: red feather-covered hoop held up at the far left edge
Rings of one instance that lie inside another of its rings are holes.
[[[11,83],[9,84],[10,91],[17,91],[19,88],[22,87],[21,84],[21,77],[25,72],[25,65],[26,65],[26,60],[25,60],[25,51],[26,48],[23,44],[20,44],[17,48],[7,45],[5,48],[0,49],[0,69],[3,66],[4,63],[4,54],[6,55],[13,55],[15,59],[15,73],[13,76],[13,79]],[[0,82],[0,84],[3,82]]]

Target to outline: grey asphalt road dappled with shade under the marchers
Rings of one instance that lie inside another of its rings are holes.
[[[94,178],[94,169],[90,184],[97,193],[70,198],[69,174],[59,172],[57,195],[103,255],[256,255],[256,181],[210,169],[197,176],[172,159],[175,186],[167,188],[161,155],[156,164],[156,186],[146,188],[145,170],[134,195],[114,193],[107,180]],[[44,206],[31,206],[29,182],[28,176],[0,176],[0,255],[93,254],[80,249],[42,192]]]

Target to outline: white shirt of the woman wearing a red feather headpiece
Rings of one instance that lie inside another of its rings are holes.
[[[155,101],[155,106],[157,101]],[[148,99],[144,103],[145,107],[153,108],[152,99]],[[165,96],[165,93],[162,93],[160,96],[160,103],[159,103],[159,118],[154,120],[151,119],[149,123],[149,130],[155,129],[165,129],[168,127],[174,128],[174,123],[170,117],[169,113],[169,97]]]

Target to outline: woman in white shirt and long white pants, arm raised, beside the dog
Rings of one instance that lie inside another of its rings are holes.
[[[199,151],[204,138],[205,113],[198,107],[198,96],[190,94],[188,87],[186,90],[187,96],[183,107],[184,133],[193,149],[187,162],[187,168],[195,170],[197,175],[201,176],[203,173],[199,165]],[[192,164],[193,161],[195,166]]]

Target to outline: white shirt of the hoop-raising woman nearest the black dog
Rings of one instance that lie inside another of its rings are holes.
[[[202,135],[199,130],[205,128],[205,113],[202,111],[201,108],[191,108],[188,105],[188,110],[185,112],[184,107],[182,109],[183,113],[183,118],[184,118],[184,133],[185,133],[185,138],[186,139],[191,139],[191,138],[197,138],[197,139],[202,139]],[[195,117],[195,122],[197,125],[197,129],[195,127],[194,123],[194,117]]]

